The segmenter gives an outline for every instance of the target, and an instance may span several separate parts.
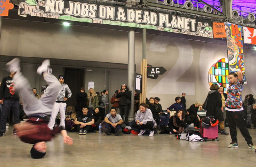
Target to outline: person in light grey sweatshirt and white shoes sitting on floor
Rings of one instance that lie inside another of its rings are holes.
[[[154,124],[155,120],[152,112],[148,109],[148,105],[146,105],[146,103],[140,103],[140,110],[137,111],[135,122],[132,123],[132,128],[140,130],[138,135],[143,135],[146,129],[149,129],[149,136],[154,136]]]

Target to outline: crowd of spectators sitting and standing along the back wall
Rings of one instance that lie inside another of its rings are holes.
[[[1,86],[1,89],[3,89]],[[208,93],[210,103],[208,103],[207,116],[215,116],[219,120],[221,134],[227,134],[225,127],[225,100],[227,94],[224,93],[224,87],[218,87],[212,84]],[[39,99],[37,89],[32,89],[32,94]],[[160,133],[179,134],[189,125],[200,128],[202,117],[197,114],[202,110],[202,104],[197,101],[195,104],[186,108],[186,93],[181,97],[176,97],[173,104],[166,110],[162,109],[159,97],[150,97],[146,103],[140,103],[139,94],[134,93],[134,107],[131,106],[131,91],[126,84],[121,85],[121,89],[115,91],[111,96],[110,103],[112,107],[110,113],[106,112],[108,105],[108,90],[101,93],[95,92],[90,88],[85,92],[85,88],[80,88],[76,94],[76,105],[68,106],[65,113],[65,129],[69,132],[78,132],[79,135],[85,135],[87,132],[99,132],[99,125],[103,125],[103,132],[106,135],[114,133],[116,136],[122,132],[121,125],[130,125],[129,127],[138,132],[139,135],[149,134],[154,136],[157,130]],[[246,95],[243,101],[245,109],[245,120],[248,126],[253,128],[256,125],[256,104],[252,94]],[[22,108],[22,107],[21,107]],[[128,122],[129,110],[134,110],[134,120]],[[1,106],[0,106],[1,111]],[[108,114],[107,114],[108,113]],[[24,112],[23,112],[24,114]],[[21,117],[21,119],[25,116]],[[57,115],[56,124],[60,124],[60,114]],[[123,128],[124,129],[124,128]]]

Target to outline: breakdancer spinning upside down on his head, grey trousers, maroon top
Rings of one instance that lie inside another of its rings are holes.
[[[11,69],[16,72],[14,79],[16,80],[15,89],[20,94],[23,102],[23,110],[29,119],[24,123],[14,125],[15,132],[20,140],[25,143],[33,144],[31,148],[32,158],[42,158],[46,154],[46,141],[50,141],[55,134],[61,133],[64,138],[64,143],[72,144],[73,139],[67,135],[67,131],[63,128],[55,128],[50,130],[48,128],[49,116],[53,104],[57,98],[60,90],[60,82],[57,78],[51,74],[49,68],[49,60],[42,62],[42,65],[38,67],[37,73],[43,74],[44,79],[48,84],[48,88],[39,100],[30,93],[30,84],[20,72],[20,60],[14,58],[12,61],[6,64],[7,69]],[[16,70],[15,70],[16,69]]]

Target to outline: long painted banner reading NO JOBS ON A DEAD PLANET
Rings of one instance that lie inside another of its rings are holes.
[[[159,13],[150,9],[113,6],[108,3],[21,0],[18,14],[95,24],[139,27],[213,38],[210,19]]]

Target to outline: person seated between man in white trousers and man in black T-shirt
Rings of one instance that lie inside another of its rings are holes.
[[[65,130],[68,132],[75,132],[77,130],[77,126],[75,125],[77,117],[75,108],[73,106],[68,106],[66,111]]]

